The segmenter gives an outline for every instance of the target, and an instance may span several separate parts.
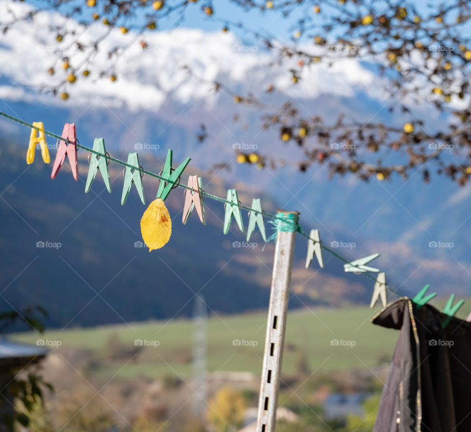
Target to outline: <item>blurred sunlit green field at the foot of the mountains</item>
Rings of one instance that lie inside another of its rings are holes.
[[[260,374],[266,315],[260,312],[211,316],[208,320],[208,370]],[[307,360],[309,369],[314,372],[372,367],[390,359],[398,332],[371,324],[372,315],[372,310],[365,306],[289,311],[283,372],[296,373],[302,360],[304,363]],[[86,349],[94,359],[94,372],[105,376],[187,376],[192,371],[194,324],[189,320],[47,331],[39,337],[31,332],[11,336],[33,344],[38,338],[60,341],[59,352],[64,356],[73,351],[67,350],[71,347]],[[148,346],[136,355],[133,350],[137,339],[158,341],[159,345]],[[235,346],[233,341],[237,339],[256,341],[257,345]],[[355,346],[351,343],[350,346],[332,346],[334,339],[354,341]],[[118,351],[121,348],[125,352],[121,358],[109,359],[110,340],[114,340],[113,352],[117,351],[118,340]]]

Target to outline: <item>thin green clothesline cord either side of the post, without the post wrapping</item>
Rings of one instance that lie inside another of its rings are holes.
[[[17,122],[17,123],[19,123],[19,124],[22,124],[22,125],[24,125],[24,126],[27,126],[27,127],[29,127],[29,128],[39,130],[36,126],[32,125],[31,123],[27,123],[27,122],[25,122],[25,121],[23,121],[23,120],[21,120],[21,119],[19,119],[19,118],[17,118],[17,117],[14,117],[14,116],[11,116],[11,115],[7,114],[7,113],[5,113],[5,112],[0,111],[0,115],[3,116],[3,117],[5,117],[5,118],[8,118],[8,119],[10,119],[10,120],[12,120],[12,121],[15,121],[15,122]],[[120,164],[120,165],[123,165],[123,166],[125,166],[125,167],[135,169],[135,166],[133,166],[133,165],[127,163],[127,162],[121,161],[121,160],[119,160],[119,159],[113,158],[113,157],[111,157],[109,154],[104,155],[104,154],[102,154],[102,153],[100,153],[100,152],[98,152],[98,151],[96,151],[96,150],[93,150],[92,148],[89,148],[89,147],[87,147],[87,146],[84,146],[84,145],[80,144],[80,143],[78,142],[78,140],[77,140],[77,142],[72,142],[72,141],[70,141],[70,140],[67,139],[67,138],[64,138],[64,137],[62,137],[62,136],[60,136],[60,135],[54,134],[54,133],[49,132],[49,131],[46,131],[46,130],[44,131],[44,133],[45,133],[46,135],[49,135],[49,136],[53,137],[53,138],[56,138],[57,140],[61,140],[61,141],[67,142],[67,143],[69,143],[69,144],[70,144],[70,143],[76,144],[78,148],[81,148],[82,150],[85,150],[85,151],[88,151],[88,152],[90,152],[90,153],[96,154],[96,155],[98,155],[98,156],[105,157],[108,161],[112,161],[112,162],[118,163],[118,164]],[[139,169],[140,169],[140,168],[139,168]],[[140,172],[142,172],[143,174],[147,174],[148,176],[157,178],[157,179],[159,179],[159,180],[161,180],[161,181],[164,181],[164,182],[166,182],[166,183],[173,183],[173,182],[170,181],[167,177],[161,176],[160,174],[156,174],[156,173],[154,173],[154,172],[147,171],[147,170],[145,170],[145,169],[140,170]],[[188,186],[186,186],[186,185],[182,185],[181,183],[177,183],[175,186],[180,187],[180,188],[183,188],[183,189],[191,190],[191,191],[193,190],[192,188],[190,188],[190,187],[188,187]],[[207,197],[207,198],[210,198],[210,199],[213,199],[213,200],[216,200],[216,201],[220,201],[220,202],[223,202],[223,203],[227,203],[227,204],[234,204],[233,202],[227,200],[226,198],[221,198],[221,197],[219,197],[219,196],[217,196],[217,195],[213,195],[213,194],[207,193],[207,192],[205,192],[204,190],[203,190],[202,192],[203,192],[205,198]],[[249,211],[249,212],[257,212],[257,213],[260,213],[260,210],[253,209],[253,208],[251,208],[251,207],[249,207],[249,206],[244,206],[244,205],[242,205],[242,204],[239,204],[239,207],[240,207],[241,209],[247,210],[247,211]],[[264,211],[262,211],[262,215],[265,216],[265,217],[272,218],[272,219],[281,219],[281,218],[280,218],[279,216],[277,216],[277,215],[272,215],[272,214],[266,213],[266,212],[264,212]],[[349,260],[343,258],[343,257],[342,257],[341,255],[339,255],[337,252],[335,252],[335,251],[333,251],[332,249],[330,249],[330,248],[328,248],[327,246],[325,246],[322,242],[318,242],[317,240],[312,239],[308,234],[306,234],[306,233],[303,231],[303,229],[302,229],[301,226],[298,226],[297,232],[299,232],[302,236],[306,237],[307,239],[311,240],[311,241],[314,242],[314,243],[320,243],[320,246],[321,246],[322,249],[326,250],[327,252],[329,252],[330,254],[332,254],[333,256],[335,256],[336,258],[340,259],[344,264],[350,264],[352,267],[356,267],[356,268],[359,268],[359,269],[360,269],[359,266],[357,266],[357,265],[355,265],[355,264],[352,264],[351,261],[349,261]],[[373,280],[373,281],[375,281],[375,282],[377,282],[377,283],[380,283],[381,285],[385,285],[385,286],[386,286],[386,289],[387,289],[388,291],[390,291],[390,292],[392,292],[392,293],[394,293],[395,295],[397,295],[397,296],[400,297],[400,294],[399,294],[396,290],[392,289],[388,284],[383,284],[382,282],[378,281],[377,278],[374,277],[373,275],[371,275],[369,272],[362,271],[361,273],[364,274],[366,277],[370,278],[371,280]]]

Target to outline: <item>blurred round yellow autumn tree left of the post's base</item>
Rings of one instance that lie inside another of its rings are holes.
[[[239,390],[224,387],[209,401],[208,420],[218,432],[239,429],[244,415],[245,400]]]

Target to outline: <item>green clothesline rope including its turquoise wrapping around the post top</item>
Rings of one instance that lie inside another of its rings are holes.
[[[10,120],[13,120],[17,123],[20,123],[21,125],[24,125],[24,126],[27,126],[28,128],[32,128],[32,129],[36,129],[39,131],[39,128],[37,128],[36,126],[33,126],[31,123],[27,123],[17,117],[13,117],[5,112],[2,112],[0,111],[0,115],[3,116],[3,117],[6,117]],[[69,144],[70,143],[73,143],[72,141],[70,141],[69,139],[67,138],[64,138],[60,135],[56,135],[52,132],[49,132],[49,131],[44,131],[44,133],[46,135],[49,135],[49,136],[52,136],[53,138],[56,138],[58,140],[61,140],[61,141],[64,141],[64,142],[68,142]],[[97,152],[89,147],[86,147],[84,145],[81,145],[80,143],[76,143],[77,147],[78,148],[81,148],[83,150],[86,150],[87,152],[90,152],[90,153],[94,153],[95,155],[99,155],[99,156],[102,156],[102,157],[106,157],[107,160],[109,161],[113,161],[113,162],[116,162],[120,165],[123,165],[123,166],[126,166],[128,168],[135,168],[135,166],[133,165],[130,165],[129,163],[127,162],[124,162],[124,161],[121,161],[119,159],[116,159],[116,158],[113,158],[111,156],[109,156],[108,154],[106,155],[103,155],[101,154],[100,152]],[[173,183],[171,181],[169,181],[168,178],[166,177],[163,177],[159,174],[155,174],[151,171],[147,171],[147,170],[141,170],[141,172],[143,172],[144,174],[147,174],[148,176],[151,176],[151,177],[155,177],[156,179],[159,179],[159,180],[163,180],[164,182],[166,183]],[[188,186],[185,186],[185,185],[182,185],[182,184],[177,184],[176,186],[180,187],[180,188],[183,188],[183,189],[188,189],[188,190],[193,190],[192,188],[188,187]],[[234,204],[232,201],[229,201],[225,198],[221,198],[217,195],[212,195],[210,193],[207,193],[207,192],[204,192],[204,195],[205,197],[208,197],[208,198],[211,198],[211,199],[214,199],[216,201],[220,201],[220,202],[223,202],[223,203],[227,203],[227,204]],[[255,209],[252,209],[251,207],[248,207],[248,206],[244,206],[244,205],[240,205],[240,208],[241,209],[244,209],[244,210],[248,210],[249,212],[256,212],[256,213],[260,213],[260,211],[258,210],[255,210]],[[309,237],[309,235],[307,235],[301,228],[301,226],[299,225],[299,216],[297,213],[279,213],[278,215],[272,215],[270,213],[266,213],[266,212],[263,212],[262,211],[262,215],[263,216],[266,216],[266,217],[270,217],[272,219],[277,219],[276,222],[275,222],[275,226],[276,226],[276,230],[277,231],[283,231],[283,232],[299,232],[301,235],[303,235],[304,237],[312,240],[313,242],[317,243],[314,239],[311,239],[311,237]],[[342,256],[340,256],[338,253],[334,252],[332,249],[329,249],[328,247],[324,246],[322,243],[320,244],[321,247],[323,249],[325,249],[327,252],[329,252],[330,254],[334,255],[335,257],[339,258],[341,261],[343,261],[345,264],[350,264],[350,261],[346,260],[345,258],[343,258]],[[353,267],[358,267],[358,266],[355,266],[355,265],[352,265]],[[376,282],[376,278],[367,273],[367,272],[362,272],[362,274],[364,274],[365,276],[369,277],[371,280],[374,280]],[[386,285],[386,289],[391,291],[392,293],[396,294],[397,296],[400,297],[400,294],[393,290],[389,285]]]

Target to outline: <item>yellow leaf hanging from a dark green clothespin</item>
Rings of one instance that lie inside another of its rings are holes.
[[[146,246],[149,247],[149,252],[160,249],[169,241],[172,234],[172,220],[165,203],[160,198],[152,201],[142,215],[141,234]]]

